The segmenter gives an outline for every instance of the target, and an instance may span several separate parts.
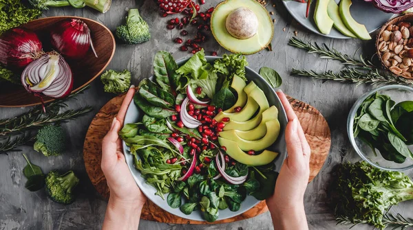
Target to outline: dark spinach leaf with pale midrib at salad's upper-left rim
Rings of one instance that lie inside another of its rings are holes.
[[[175,97],[173,97],[171,93],[160,89],[149,79],[140,81],[138,92],[143,98],[154,106],[172,109],[175,105]]]

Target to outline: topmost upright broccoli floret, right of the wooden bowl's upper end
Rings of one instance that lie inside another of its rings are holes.
[[[127,44],[140,44],[149,41],[149,25],[139,15],[138,9],[130,9],[126,24],[116,28],[116,36]]]

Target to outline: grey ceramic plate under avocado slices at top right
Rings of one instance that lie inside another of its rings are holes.
[[[299,3],[297,1],[282,1],[286,6],[288,12],[293,15],[294,19],[297,20],[301,25],[304,25],[308,30],[326,36],[328,38],[350,38],[341,34],[335,27],[332,28],[330,34],[321,34],[315,25],[313,16],[315,9],[315,1],[311,4],[310,13],[308,14],[308,19],[306,19],[306,3]],[[339,0],[335,0],[339,3]],[[385,13],[374,7],[373,3],[366,2],[363,0],[353,0],[350,7],[350,13],[353,18],[360,24],[366,25],[366,29],[369,33],[377,30],[381,25],[386,23],[394,14]]]

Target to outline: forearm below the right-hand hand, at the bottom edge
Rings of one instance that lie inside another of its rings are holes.
[[[274,229],[280,230],[306,230],[308,229],[304,205],[298,205],[292,209],[277,209],[268,207],[273,218]]]

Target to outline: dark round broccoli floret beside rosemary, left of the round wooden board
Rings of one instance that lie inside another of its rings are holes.
[[[46,157],[57,156],[65,150],[65,133],[61,126],[47,125],[39,130],[34,143],[34,150]]]

